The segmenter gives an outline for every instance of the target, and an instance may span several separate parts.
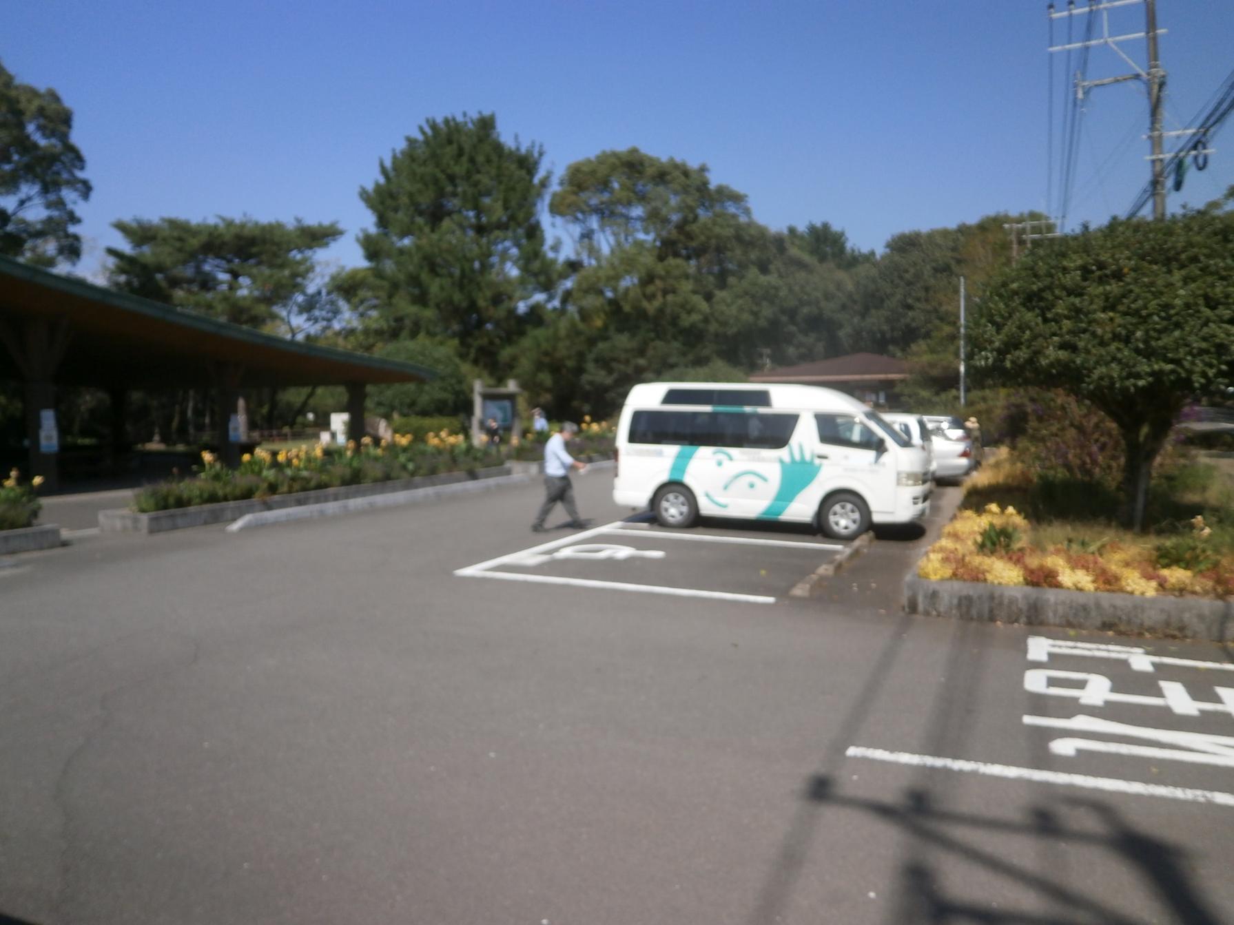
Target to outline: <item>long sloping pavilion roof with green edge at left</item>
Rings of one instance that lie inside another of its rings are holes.
[[[288,340],[0,257],[0,322],[64,319],[63,385],[128,388],[209,386],[221,365],[243,386],[415,382],[437,374],[413,363]],[[0,377],[20,379],[0,348]]]

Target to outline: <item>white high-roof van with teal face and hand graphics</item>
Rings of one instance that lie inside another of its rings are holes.
[[[803,385],[647,382],[617,424],[613,501],[665,527],[813,523],[851,539],[929,512],[926,453],[856,398]]]

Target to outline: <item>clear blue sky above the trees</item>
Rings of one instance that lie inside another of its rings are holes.
[[[1065,63],[1046,53],[1045,14],[1044,0],[9,0],[0,60],[74,110],[94,184],[85,274],[122,243],[112,221],[160,216],[337,221],[328,259],[362,263],[357,194],[379,159],[426,118],[490,111],[558,176],[636,146],[707,164],[768,226],[828,221],[879,249],[1046,206],[1050,59],[1055,146]],[[1144,7],[1109,16],[1112,33],[1139,31]],[[1157,0],[1157,18],[1177,128],[1234,67],[1234,2]],[[1143,42],[1125,49],[1143,64]],[[1092,52],[1090,76],[1125,70]],[[1097,89],[1081,122],[1069,223],[1101,223],[1148,179],[1145,95]],[[1234,184],[1234,131],[1215,147],[1171,205]]]

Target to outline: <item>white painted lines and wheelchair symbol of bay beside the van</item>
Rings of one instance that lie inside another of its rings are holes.
[[[775,597],[768,594],[743,594],[733,591],[710,591],[707,588],[679,588],[664,585],[639,585],[633,582],[623,581],[603,581],[598,578],[570,578],[558,575],[536,575],[529,572],[510,572],[501,571],[500,566],[536,566],[543,565],[550,561],[560,559],[595,559],[595,560],[626,560],[626,559],[661,559],[663,553],[656,554],[655,551],[647,550],[633,550],[623,553],[627,548],[618,546],[616,544],[587,544],[586,540],[595,539],[605,535],[638,535],[638,536],[655,536],[656,539],[675,539],[675,540],[694,540],[697,543],[721,543],[721,544],[738,544],[738,545],[750,545],[750,546],[780,546],[780,548],[792,548],[792,549],[810,549],[810,550],[822,550],[822,551],[835,551],[844,549],[844,546],[835,544],[824,543],[803,543],[800,540],[776,540],[776,539],[760,539],[760,538],[740,538],[740,536],[707,536],[696,534],[682,534],[676,532],[660,532],[650,530],[644,528],[642,524],[628,524],[623,520],[613,520],[612,523],[602,524],[600,527],[592,527],[587,530],[580,530],[578,533],[571,533],[560,539],[549,540],[548,543],[542,543],[529,549],[521,549],[517,553],[507,553],[506,555],[497,556],[496,559],[490,559],[485,562],[479,562],[478,565],[470,565],[465,569],[457,569],[454,575],[462,578],[496,578],[499,581],[523,581],[531,583],[540,585],[573,585],[575,587],[585,588],[605,588],[610,591],[632,591],[642,594],[669,594],[673,597],[701,597],[712,601],[734,601],[738,603],[752,603],[752,604],[774,604],[776,602]],[[570,549],[581,549],[580,554],[571,554],[563,546]],[[590,550],[590,551],[589,551]]]

